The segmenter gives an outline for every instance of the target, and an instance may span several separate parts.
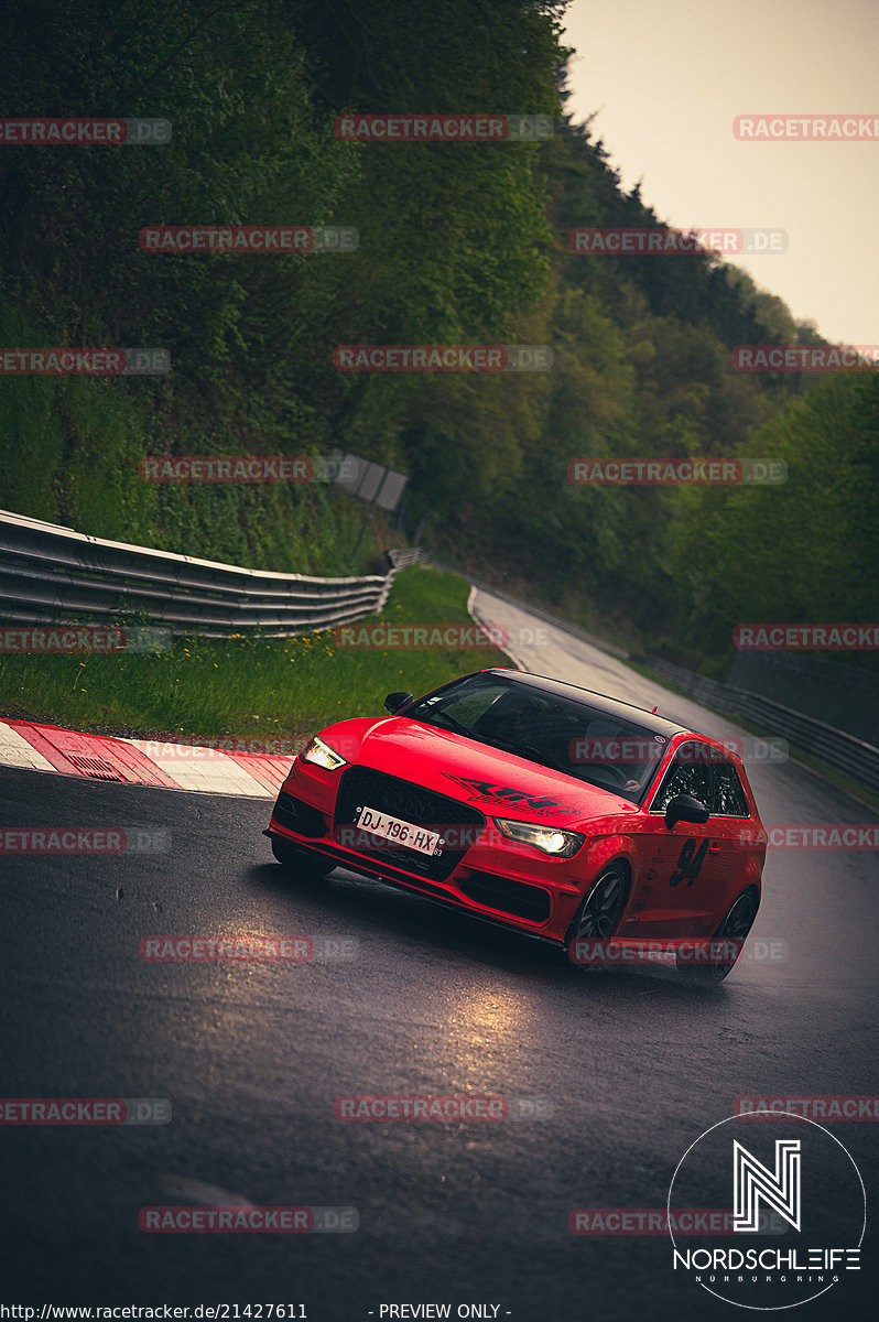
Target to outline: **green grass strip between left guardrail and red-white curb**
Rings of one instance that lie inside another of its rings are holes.
[[[402,570],[369,624],[471,624],[468,584],[440,570]],[[123,621],[119,621],[123,623]],[[394,689],[420,694],[459,674],[510,665],[493,648],[379,652],[337,646],[333,629],[296,639],[176,639],[149,654],[0,657],[12,718],[144,739],[300,740],[345,717],[382,713]]]

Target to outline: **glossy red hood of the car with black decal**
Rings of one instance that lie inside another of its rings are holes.
[[[638,810],[612,791],[406,717],[340,720],[320,738],[349,761],[472,802],[489,817],[576,826]]]

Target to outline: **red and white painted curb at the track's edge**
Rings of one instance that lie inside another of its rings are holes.
[[[274,798],[292,758],[233,752],[155,739],[85,735],[32,720],[0,720],[0,767],[54,771],[127,785],[202,795]]]

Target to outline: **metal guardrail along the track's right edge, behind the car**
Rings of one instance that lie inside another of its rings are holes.
[[[794,711],[759,693],[735,689],[716,680],[708,680],[707,676],[693,674],[691,670],[671,665],[670,661],[652,661],[650,665],[657,674],[670,680],[678,689],[683,689],[706,706],[752,720],[879,793],[879,748],[864,739],[827,726],[814,717],[806,717],[802,711]]]

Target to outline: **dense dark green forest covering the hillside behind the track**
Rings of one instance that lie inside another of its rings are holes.
[[[145,116],[171,141],[3,148],[7,346],[160,346],[155,377],[0,381],[0,504],[316,574],[423,527],[436,555],[694,668],[743,620],[879,616],[875,374],[743,374],[818,342],[710,253],[575,254],[658,226],[566,112],[564,4],[5,5],[0,118]],[[624,52],[615,58],[625,58]],[[34,73],[37,71],[37,73]],[[363,143],[338,115],[543,115],[543,141]],[[353,251],[148,253],[173,225],[345,225]],[[550,371],[345,373],[337,345],[549,345]],[[156,485],[145,455],[320,455],[410,475],[398,526],[321,485]],[[582,457],[769,456],[776,486],[584,486]]]

